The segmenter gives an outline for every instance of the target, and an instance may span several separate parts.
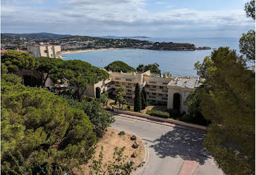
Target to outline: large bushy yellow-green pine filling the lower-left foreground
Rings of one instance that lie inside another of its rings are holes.
[[[65,99],[1,80],[2,174],[72,174],[95,142],[88,116]]]

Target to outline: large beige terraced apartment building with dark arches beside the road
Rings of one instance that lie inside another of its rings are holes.
[[[127,101],[133,102],[135,98],[135,85],[138,83],[140,88],[144,88],[148,94],[150,103],[165,104],[168,109],[177,109],[179,112],[188,113],[188,107],[185,99],[195,87],[199,86],[199,80],[196,77],[160,77],[160,75],[150,74],[146,71],[142,74],[136,72],[108,72],[110,78],[97,84],[88,86],[85,95],[95,97],[96,88],[108,91],[115,95],[115,88],[123,87],[126,94],[123,95]],[[158,77],[156,77],[158,76]]]

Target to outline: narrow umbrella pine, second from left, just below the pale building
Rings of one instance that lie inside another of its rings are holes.
[[[42,77],[42,87],[45,88],[46,80],[55,77],[56,70],[61,67],[63,60],[49,57],[36,57],[36,61],[39,63],[36,72]]]

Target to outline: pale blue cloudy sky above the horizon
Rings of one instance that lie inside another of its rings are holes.
[[[2,0],[1,33],[240,37],[246,0]]]

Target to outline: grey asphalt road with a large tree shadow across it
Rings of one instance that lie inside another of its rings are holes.
[[[138,174],[184,174],[184,162],[197,162],[185,174],[223,174],[203,147],[204,134],[143,120],[115,116],[112,128],[140,136],[148,148],[148,161]],[[182,170],[181,170],[182,169]]]

